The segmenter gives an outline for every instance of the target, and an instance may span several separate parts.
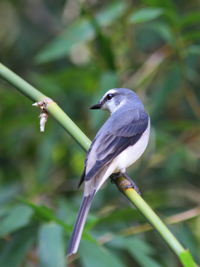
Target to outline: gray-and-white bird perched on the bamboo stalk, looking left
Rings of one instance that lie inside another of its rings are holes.
[[[125,174],[126,167],[140,158],[149,139],[150,118],[142,101],[133,91],[125,88],[109,90],[90,109],[108,110],[111,116],[98,131],[87,152],[79,183],[80,187],[85,180],[84,196],[69,242],[67,256],[78,250],[94,195],[113,173],[130,179]],[[131,187],[139,192],[134,182]]]

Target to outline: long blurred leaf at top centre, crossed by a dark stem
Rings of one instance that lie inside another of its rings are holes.
[[[127,5],[122,1],[113,2],[102,9],[95,17],[100,26],[106,26],[119,18],[125,11]],[[36,64],[43,64],[58,60],[69,55],[74,45],[89,42],[96,36],[96,32],[89,19],[81,18],[72,23],[66,30],[52,39],[35,56]]]

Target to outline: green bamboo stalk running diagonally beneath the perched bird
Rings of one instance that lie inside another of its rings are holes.
[[[30,98],[33,102],[41,101],[47,96],[40,93],[36,88],[25,82],[17,74],[10,71],[4,65],[0,63],[0,77],[5,81],[9,82],[25,96]],[[91,141],[87,136],[76,126],[75,123],[63,112],[62,109],[53,101],[47,104],[47,111],[51,114],[58,123],[73,137],[73,139],[78,142],[78,144],[87,151],[91,144]],[[116,185],[120,187],[120,183],[126,180],[124,177],[119,177],[116,180]],[[148,222],[153,226],[153,228],[160,234],[167,245],[172,249],[172,251],[177,255],[180,262],[185,267],[196,267],[190,252],[180,244],[180,242],[173,236],[169,229],[164,225],[164,223],[159,219],[159,217],[153,212],[153,210],[148,206],[148,204],[139,196],[136,191],[132,188],[123,190],[119,188],[121,192],[132,202],[132,204],[141,212],[141,214],[148,220]]]

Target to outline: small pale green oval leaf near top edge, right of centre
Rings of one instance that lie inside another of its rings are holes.
[[[163,8],[146,7],[135,11],[130,17],[130,23],[141,23],[155,20],[164,14]]]

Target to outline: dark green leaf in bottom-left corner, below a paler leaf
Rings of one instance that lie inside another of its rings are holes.
[[[26,251],[35,240],[37,227],[23,228],[12,235],[0,253],[0,266],[17,267],[25,257]]]

